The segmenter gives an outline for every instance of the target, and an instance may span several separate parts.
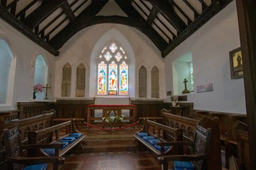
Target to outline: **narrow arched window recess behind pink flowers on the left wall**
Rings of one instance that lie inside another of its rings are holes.
[[[46,60],[42,55],[38,55],[35,58],[35,75],[34,75],[34,86],[36,84],[41,84],[45,86],[47,84],[48,77],[48,66]],[[35,91],[35,88],[34,88]],[[43,90],[42,92],[36,92],[36,100],[43,100],[46,97],[46,92]],[[34,98],[33,98],[34,99]]]

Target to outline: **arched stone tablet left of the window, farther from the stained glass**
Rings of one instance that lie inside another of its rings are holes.
[[[62,72],[62,88],[61,88],[61,97],[70,97],[71,96],[71,74],[72,68],[69,63],[66,63],[63,67]]]

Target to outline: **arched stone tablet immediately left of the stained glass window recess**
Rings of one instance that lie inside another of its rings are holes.
[[[76,69],[76,97],[85,96],[85,66],[80,63]]]

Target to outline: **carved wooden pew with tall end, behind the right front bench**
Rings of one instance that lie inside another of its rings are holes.
[[[212,129],[212,138],[210,139],[210,151],[208,155],[208,170],[221,169],[221,149],[220,149],[220,128],[216,118],[207,116],[200,120],[177,116],[170,111],[162,109],[163,124],[172,128],[181,128],[183,130],[183,141],[192,142],[195,139],[196,125],[200,124],[203,128]],[[191,147],[184,147],[184,152],[191,154]],[[214,165],[214,166],[210,166]]]

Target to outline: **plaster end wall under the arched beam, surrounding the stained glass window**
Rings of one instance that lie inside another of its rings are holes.
[[[56,61],[56,98],[61,96],[62,68],[64,64],[69,62],[73,70],[73,66],[79,60],[84,61],[88,65],[86,67],[86,79],[89,78],[89,81],[85,82],[85,97],[93,98],[96,96],[96,64],[92,59],[95,59],[95,57],[100,54],[102,48],[104,48],[105,45],[108,45],[112,40],[117,41],[119,45],[123,46],[123,49],[127,53],[127,57],[132,59],[130,62],[134,62],[134,66],[130,67],[130,71],[134,77],[129,75],[129,82],[134,86],[129,87],[130,97],[137,97],[137,67],[143,62],[148,65],[148,75],[151,75],[152,67],[158,67],[160,74],[160,98],[165,97],[164,59],[150,39],[137,29],[126,25],[98,24],[77,32],[76,35],[71,37],[71,39],[61,47],[60,56],[57,57]],[[105,44],[105,42],[108,43]],[[97,50],[98,53],[96,53]],[[90,70],[90,73],[88,73],[87,70]],[[87,73],[89,75],[87,75]],[[75,82],[72,81],[72,84],[74,83]],[[72,90],[75,91],[75,85],[71,86]],[[148,90],[148,96],[150,96],[151,86],[148,86]],[[75,95],[71,95],[69,99],[72,99],[72,97],[75,97]],[[119,100],[118,97],[116,99]]]

